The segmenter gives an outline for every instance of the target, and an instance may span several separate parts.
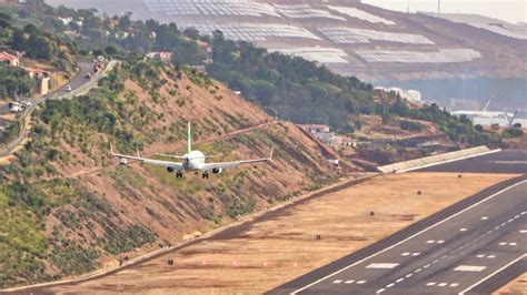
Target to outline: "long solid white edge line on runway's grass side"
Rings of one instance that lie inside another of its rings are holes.
[[[395,243],[395,244],[392,244],[392,245],[390,245],[390,246],[388,246],[388,247],[386,247],[386,248],[384,248],[384,250],[381,250],[381,251],[378,251],[378,252],[376,252],[376,253],[374,253],[374,254],[371,254],[371,255],[369,255],[369,256],[367,256],[367,257],[360,260],[360,261],[357,261],[357,262],[355,262],[355,263],[352,263],[352,264],[350,264],[350,265],[348,265],[348,266],[346,266],[346,267],[342,267],[342,268],[340,268],[340,269],[338,269],[338,271],[336,271],[336,272],[334,272],[334,273],[331,273],[331,274],[329,274],[329,275],[327,275],[327,276],[325,276],[325,277],[322,277],[322,278],[319,278],[319,279],[317,279],[317,281],[315,281],[315,282],[312,282],[312,283],[310,283],[310,284],[308,284],[308,285],[301,287],[301,288],[298,288],[298,289],[291,292],[291,294],[297,294],[297,293],[299,293],[299,292],[301,292],[301,291],[304,291],[304,289],[306,289],[306,288],[309,288],[309,287],[311,287],[311,286],[314,286],[314,285],[316,285],[316,284],[318,284],[318,283],[320,283],[320,282],[326,281],[327,278],[329,278],[329,277],[331,277],[331,276],[334,276],[334,275],[337,275],[337,274],[339,274],[339,273],[341,273],[341,272],[344,272],[344,271],[346,271],[346,269],[349,269],[350,267],[354,267],[354,266],[356,266],[356,265],[358,265],[358,264],[360,264],[360,263],[362,263],[362,262],[365,262],[365,261],[368,261],[368,260],[370,260],[370,258],[372,258],[372,257],[376,257],[377,255],[379,255],[379,254],[381,254],[381,253],[385,253],[385,252],[387,252],[387,251],[389,251],[389,250],[391,250],[391,248],[394,248],[394,247],[396,247],[396,246],[398,246],[398,245],[400,245],[400,244],[404,244],[404,243],[406,243],[406,242],[412,240],[414,237],[419,236],[419,235],[421,235],[422,233],[426,233],[426,232],[428,232],[429,230],[435,228],[435,227],[437,227],[437,226],[439,226],[439,225],[441,225],[441,224],[444,224],[444,223],[450,221],[451,218],[455,218],[455,217],[457,217],[457,216],[464,214],[465,212],[467,212],[467,211],[469,211],[469,210],[471,210],[471,208],[474,208],[474,207],[476,207],[476,206],[479,206],[480,204],[483,204],[483,203],[485,203],[485,202],[487,202],[487,201],[489,201],[489,200],[493,200],[493,199],[496,197],[497,195],[500,195],[500,194],[503,194],[504,192],[507,192],[507,191],[509,191],[509,190],[511,190],[511,189],[514,189],[514,187],[516,187],[516,186],[519,186],[519,185],[521,185],[521,184],[524,184],[524,183],[527,183],[527,181],[520,181],[520,182],[515,183],[515,184],[513,184],[513,185],[510,185],[510,186],[507,186],[507,187],[505,187],[504,190],[501,190],[501,191],[499,191],[499,192],[497,192],[497,193],[495,193],[495,194],[493,194],[493,195],[490,195],[490,196],[487,196],[486,199],[484,199],[484,200],[481,200],[481,201],[478,201],[478,202],[474,203],[473,205],[470,205],[470,206],[468,206],[468,207],[466,207],[466,208],[464,208],[464,210],[461,210],[461,211],[459,211],[459,212],[457,212],[457,213],[455,213],[455,214],[453,214],[453,215],[450,215],[450,216],[448,216],[448,217],[446,217],[446,218],[444,218],[444,220],[441,220],[441,221],[439,221],[439,222],[437,222],[437,223],[435,223],[435,224],[432,224],[432,225],[430,225],[430,226],[428,226],[428,227],[426,227],[426,228],[424,228],[424,230],[421,230],[421,231],[419,231],[419,232],[417,232],[417,233],[415,233],[415,234],[408,236],[407,238],[404,238],[404,240],[401,240],[401,241],[399,241],[399,242],[397,242],[397,243]],[[527,214],[527,211],[521,212],[521,215],[525,215],[525,214]]]

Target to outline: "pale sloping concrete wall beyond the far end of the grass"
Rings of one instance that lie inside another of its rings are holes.
[[[471,149],[466,149],[461,151],[456,151],[446,154],[438,154],[421,159],[416,159],[407,162],[395,163],[386,166],[380,166],[378,170],[382,173],[402,173],[414,170],[419,170],[424,167],[435,166],[439,164],[450,163],[464,159],[469,159],[474,156],[479,156],[484,154],[499,152],[500,150],[489,150],[487,146],[477,146]]]

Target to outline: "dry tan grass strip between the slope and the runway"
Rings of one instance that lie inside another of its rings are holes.
[[[262,293],[379,241],[513,175],[379,176],[285,210],[223,240],[53,292]],[[417,191],[422,195],[417,195]],[[375,211],[375,216],[369,212]],[[316,235],[321,241],[316,241]],[[167,265],[167,260],[175,265]]]

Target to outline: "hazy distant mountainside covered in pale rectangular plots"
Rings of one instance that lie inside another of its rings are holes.
[[[221,30],[227,38],[300,55],[367,81],[527,73],[525,28],[483,17],[459,21],[451,14],[408,14],[342,0],[48,2],[108,14],[122,14],[126,7],[137,19],[176,22],[203,33]]]

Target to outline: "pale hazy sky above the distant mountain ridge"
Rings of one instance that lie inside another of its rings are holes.
[[[409,0],[410,11],[437,11],[437,0]],[[406,11],[408,0],[362,0],[364,3]],[[441,12],[475,13],[508,22],[527,22],[527,0],[441,0]]]

